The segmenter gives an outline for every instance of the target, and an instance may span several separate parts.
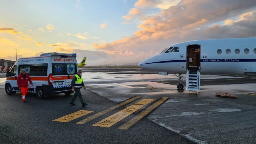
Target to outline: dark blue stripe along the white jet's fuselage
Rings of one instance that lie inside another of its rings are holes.
[[[159,62],[151,62],[151,63],[144,63],[144,64],[172,63],[172,62],[187,62],[187,60],[169,60],[169,61],[159,61]],[[256,59],[200,59],[200,62],[256,62]]]

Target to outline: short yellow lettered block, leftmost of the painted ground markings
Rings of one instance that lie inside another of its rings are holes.
[[[72,121],[72,120],[74,120],[74,119],[77,119],[77,118],[79,118],[79,117],[81,117],[81,116],[87,115],[87,114],[89,114],[89,113],[91,113],[91,112],[93,112],[93,111],[80,110],[80,111],[77,111],[77,112],[68,114],[68,115],[66,115],[66,116],[57,118],[57,119],[52,120],[52,121],[57,121],[57,122],[69,122],[69,121]]]

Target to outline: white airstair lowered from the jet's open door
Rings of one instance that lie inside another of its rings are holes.
[[[186,90],[200,91],[200,67],[187,68]]]

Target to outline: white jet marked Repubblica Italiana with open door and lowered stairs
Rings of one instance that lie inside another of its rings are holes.
[[[208,39],[177,43],[138,64],[160,75],[186,74],[186,90],[200,91],[200,74],[256,77],[256,37]]]

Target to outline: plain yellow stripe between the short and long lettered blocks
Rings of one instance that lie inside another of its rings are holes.
[[[129,103],[131,103],[131,102],[133,102],[133,101],[135,101],[135,100],[137,100],[139,98],[142,98],[142,97],[141,96],[140,97],[136,96],[136,97],[130,98],[130,99],[128,99],[128,100],[126,100],[126,101],[124,101],[124,102],[122,102],[120,104],[117,104],[117,105],[115,105],[115,106],[113,106],[111,108],[103,110],[103,111],[101,111],[101,112],[99,112],[97,114],[94,114],[94,115],[92,115],[92,116],[90,116],[88,118],[85,118],[85,119],[77,122],[76,124],[85,124],[85,123],[87,123],[87,122],[89,122],[89,121],[91,121],[91,120],[93,120],[93,119],[95,119],[95,118],[97,118],[97,117],[99,117],[101,115],[104,115],[104,114],[106,114],[106,113],[108,113],[108,112],[110,112],[110,111],[112,111],[114,109],[117,109],[117,108],[121,107],[121,106],[127,105],[127,104],[129,104]]]

